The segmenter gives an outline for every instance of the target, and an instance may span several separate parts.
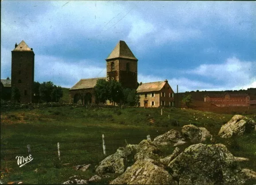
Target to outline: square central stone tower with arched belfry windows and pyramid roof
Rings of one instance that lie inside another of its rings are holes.
[[[120,40],[106,58],[106,77],[108,81],[121,82],[123,87],[137,89],[138,59],[135,58],[127,44]]]

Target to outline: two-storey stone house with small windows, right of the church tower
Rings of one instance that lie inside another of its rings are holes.
[[[174,104],[174,92],[167,80],[140,83],[137,92],[140,96],[139,107],[164,107]]]

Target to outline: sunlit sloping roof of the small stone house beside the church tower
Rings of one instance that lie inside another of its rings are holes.
[[[165,85],[165,81],[155,81],[150,83],[144,83],[138,86],[137,92],[155,92],[160,91]]]

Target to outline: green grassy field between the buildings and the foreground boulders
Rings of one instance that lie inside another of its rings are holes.
[[[73,175],[87,180],[95,174],[94,166],[106,157],[102,151],[102,134],[109,155],[125,146],[126,141],[138,144],[146,135],[154,139],[172,128],[181,130],[186,124],[206,127],[215,138],[214,143],[225,144],[235,156],[250,158],[249,162],[240,165],[256,171],[255,132],[235,140],[216,136],[221,125],[232,116],[176,108],[163,108],[162,116],[161,108],[53,107],[1,111],[1,181],[59,184]],[[252,114],[244,116],[255,119]],[[28,144],[33,161],[19,167],[15,158],[28,156]],[[170,146],[162,148],[160,155],[167,156],[173,149]],[[83,164],[92,164],[92,167],[86,172],[71,167]],[[110,176],[113,179],[117,175]],[[107,184],[107,180],[101,183]]]

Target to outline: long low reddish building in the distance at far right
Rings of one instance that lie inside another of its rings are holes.
[[[240,107],[250,106],[250,96],[248,94],[208,94],[204,97],[204,102],[211,102],[218,107]]]

